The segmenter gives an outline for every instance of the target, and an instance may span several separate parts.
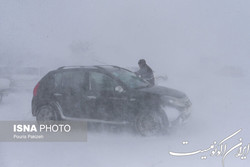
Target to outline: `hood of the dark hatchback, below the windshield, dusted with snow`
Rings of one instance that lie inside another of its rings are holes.
[[[163,87],[163,86],[152,86],[152,87],[142,88],[142,89],[139,89],[139,91],[148,92],[148,93],[152,93],[152,94],[158,94],[161,96],[170,96],[170,97],[174,97],[174,98],[185,98],[186,97],[186,94],[181,92],[181,91],[167,88],[167,87]]]

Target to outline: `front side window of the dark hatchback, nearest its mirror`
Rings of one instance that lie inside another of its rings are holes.
[[[94,91],[114,91],[118,86],[117,82],[106,74],[100,72],[90,72],[89,74],[90,90]]]

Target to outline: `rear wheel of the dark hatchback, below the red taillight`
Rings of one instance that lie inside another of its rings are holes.
[[[36,115],[37,122],[52,122],[59,120],[60,115],[58,114],[57,110],[50,105],[40,107]]]

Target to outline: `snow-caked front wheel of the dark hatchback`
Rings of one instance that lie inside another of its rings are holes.
[[[142,112],[137,116],[135,125],[142,136],[154,136],[166,133],[168,119],[162,112]]]

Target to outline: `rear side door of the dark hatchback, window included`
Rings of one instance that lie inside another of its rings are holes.
[[[86,112],[82,104],[87,90],[87,80],[83,70],[65,70],[55,74],[55,93],[66,117],[84,118]]]

